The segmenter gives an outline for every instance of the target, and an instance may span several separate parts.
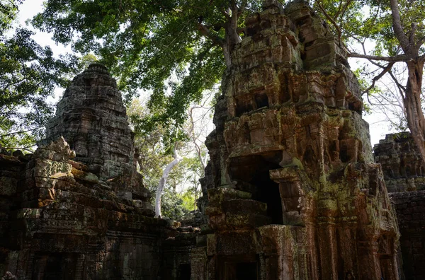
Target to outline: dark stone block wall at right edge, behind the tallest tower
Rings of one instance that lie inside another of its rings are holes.
[[[409,132],[387,134],[374,147],[397,211],[405,279],[425,278],[425,173]]]

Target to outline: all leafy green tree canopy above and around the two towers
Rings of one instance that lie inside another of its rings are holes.
[[[47,0],[31,24],[52,33],[57,43],[72,45],[75,52],[55,58],[49,47],[33,40],[31,31],[16,29],[10,34],[23,1],[1,0],[1,146],[33,146],[52,115],[47,96],[55,86],[66,86],[67,78],[96,56],[118,77],[128,104],[141,92],[151,93],[149,113],[132,122],[139,129],[136,133],[144,135],[162,129],[161,153],[169,154],[177,141],[191,139],[185,129],[189,106],[200,103],[205,90],[220,82],[244,36],[244,18],[259,11],[262,2]],[[394,82],[402,115],[425,160],[424,1],[316,0],[311,4],[346,47],[348,57],[370,62],[358,71],[365,81],[365,97],[376,91],[379,79]],[[405,69],[404,76],[397,75],[399,69]]]

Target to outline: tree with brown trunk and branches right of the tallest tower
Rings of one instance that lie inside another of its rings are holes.
[[[425,62],[425,1],[316,0],[315,5],[348,45],[348,57],[368,59],[376,67],[370,86],[387,76],[397,86],[404,116],[425,164],[425,117],[421,105]],[[341,42],[343,43],[343,42]],[[356,52],[353,45],[360,46]],[[374,45],[368,50],[368,45]],[[398,68],[397,68],[398,67]],[[397,76],[399,68],[404,76]]]

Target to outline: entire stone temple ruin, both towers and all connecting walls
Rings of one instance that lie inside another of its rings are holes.
[[[387,136],[374,162],[346,52],[304,2],[266,1],[245,33],[206,141],[200,220],[153,218],[115,80],[91,64],[35,153],[0,154],[0,274],[424,279],[409,136]]]

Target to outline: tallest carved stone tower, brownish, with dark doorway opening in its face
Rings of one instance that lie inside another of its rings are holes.
[[[398,279],[346,52],[302,1],[246,18],[208,136],[192,279]]]

